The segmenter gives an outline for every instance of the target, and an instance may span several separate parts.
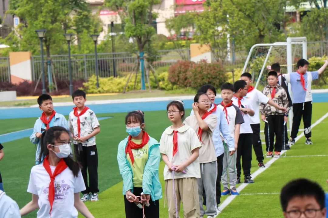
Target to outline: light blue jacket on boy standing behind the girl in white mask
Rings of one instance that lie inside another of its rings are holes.
[[[70,131],[70,127],[68,126],[68,122],[64,115],[55,113],[54,118],[51,119],[50,127],[52,126],[61,126]],[[35,121],[33,133],[30,136],[30,141],[33,144],[37,144],[36,153],[35,153],[35,164],[39,163],[39,153],[40,153],[40,139],[35,136],[37,132],[43,133],[46,130],[45,124],[41,121],[40,117]]]

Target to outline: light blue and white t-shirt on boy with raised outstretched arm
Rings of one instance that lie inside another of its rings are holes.
[[[301,75],[299,75],[297,72],[284,74],[283,76],[285,77],[286,81],[291,84],[293,104],[312,101],[311,83],[312,80],[319,78],[318,71],[306,72],[303,75],[306,90],[303,89],[301,84]]]

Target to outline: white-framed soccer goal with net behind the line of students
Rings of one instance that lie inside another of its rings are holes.
[[[242,73],[250,73],[252,80],[256,82],[255,88],[262,91],[267,84],[267,65],[279,63],[282,74],[291,73],[297,70],[296,63],[301,58],[307,59],[306,37],[288,37],[286,42],[255,44],[248,53]],[[290,84],[288,89],[292,95]],[[293,113],[289,114],[291,129]]]

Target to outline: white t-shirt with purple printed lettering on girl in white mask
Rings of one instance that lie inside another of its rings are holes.
[[[50,166],[51,172],[55,170],[55,166]],[[43,164],[32,167],[30,182],[27,192],[39,196],[37,218],[50,218],[50,203],[48,198],[50,176]],[[63,172],[55,177],[55,198],[52,205],[51,217],[75,218],[78,215],[74,207],[74,193],[84,191],[85,185],[81,171],[77,177],[73,175],[70,168],[66,168]]]

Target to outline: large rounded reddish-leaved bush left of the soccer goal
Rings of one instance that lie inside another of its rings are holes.
[[[170,66],[169,80],[177,88],[198,89],[207,83],[220,87],[228,77],[220,63],[207,63],[205,60],[195,63],[183,60]]]

